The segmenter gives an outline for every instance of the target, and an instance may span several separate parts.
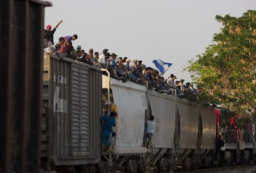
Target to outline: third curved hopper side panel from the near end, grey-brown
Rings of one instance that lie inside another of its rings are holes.
[[[177,108],[181,123],[179,145],[183,149],[195,149],[197,147],[199,110],[195,103],[182,100],[177,99]]]

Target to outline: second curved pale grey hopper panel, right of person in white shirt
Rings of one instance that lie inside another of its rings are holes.
[[[173,97],[157,92],[150,92],[148,97],[155,116],[152,144],[155,148],[173,148],[176,119]]]

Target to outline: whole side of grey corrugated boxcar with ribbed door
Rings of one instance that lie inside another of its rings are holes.
[[[56,166],[98,163],[100,69],[68,58],[46,55],[43,78],[43,98],[52,110],[52,115],[45,121],[49,123],[47,134],[54,135],[48,138],[51,142],[46,142],[48,147],[45,148],[54,146],[53,153],[50,153],[52,156],[49,157],[53,158]],[[49,121],[49,118],[53,121]],[[51,133],[52,129],[54,133]]]

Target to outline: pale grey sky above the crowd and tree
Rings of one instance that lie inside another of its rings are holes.
[[[216,15],[241,17],[247,10],[256,9],[255,0],[49,0],[45,8],[45,26],[59,25],[54,42],[61,36],[78,35],[73,46],[82,46],[85,52],[103,49],[142,60],[156,68],[153,60],[173,65],[163,75],[177,76],[177,80],[192,82],[183,72],[189,60],[197,60],[222,25]]]

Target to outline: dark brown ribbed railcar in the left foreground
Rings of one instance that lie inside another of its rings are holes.
[[[0,172],[40,168],[41,74],[46,1],[0,1]]]

